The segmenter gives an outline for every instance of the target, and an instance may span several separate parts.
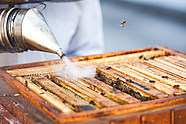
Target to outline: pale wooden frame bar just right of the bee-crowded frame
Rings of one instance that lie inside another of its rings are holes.
[[[133,79],[136,79],[140,82],[148,84],[163,93],[169,94],[170,96],[180,95],[182,93],[181,90],[175,90],[175,88],[173,88],[167,84],[164,84],[164,83],[160,82],[159,80],[156,80],[156,79],[146,76],[142,73],[139,73],[135,70],[132,70],[132,69],[124,66],[124,65],[119,65],[119,66],[113,65],[112,68],[123,73],[126,76],[132,77]],[[166,94],[163,94],[163,93],[162,93],[162,96],[168,97]]]

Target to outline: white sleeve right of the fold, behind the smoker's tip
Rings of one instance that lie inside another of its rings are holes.
[[[99,0],[84,0],[78,27],[69,44],[67,56],[103,53],[102,13]]]

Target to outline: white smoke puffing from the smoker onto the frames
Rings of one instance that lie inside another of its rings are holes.
[[[54,69],[58,70],[58,74],[61,76],[68,76],[71,79],[78,81],[78,78],[94,77],[96,74],[96,70],[93,66],[77,66],[76,62],[71,62],[66,56],[63,57],[63,61],[64,64]]]

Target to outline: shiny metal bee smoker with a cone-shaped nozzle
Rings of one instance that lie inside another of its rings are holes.
[[[0,9],[0,52],[37,50],[64,55],[36,8]]]

